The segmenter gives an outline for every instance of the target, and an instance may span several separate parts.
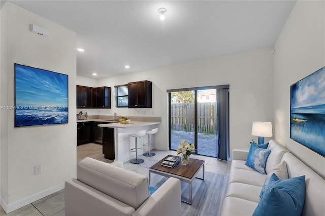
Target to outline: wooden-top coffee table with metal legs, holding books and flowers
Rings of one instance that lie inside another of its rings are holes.
[[[168,155],[163,160],[160,160],[149,168],[149,184],[151,173],[163,175],[166,177],[178,178],[180,181],[188,183],[188,198],[182,196],[182,201],[188,204],[192,204],[192,183],[194,178],[199,178],[196,176],[201,168],[203,168],[203,178],[200,179],[204,180],[204,160],[190,158],[189,163],[186,166],[182,165],[182,162],[177,164],[174,168],[161,166],[161,163],[170,156],[175,157],[175,155]]]

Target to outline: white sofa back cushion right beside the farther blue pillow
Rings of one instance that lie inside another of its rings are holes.
[[[265,165],[266,173],[271,172],[272,169],[280,163],[284,153],[288,152],[288,150],[284,149],[282,146],[277,144],[274,140],[270,140],[268,149],[271,150],[271,153]]]

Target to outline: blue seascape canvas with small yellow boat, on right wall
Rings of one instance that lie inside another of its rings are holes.
[[[290,138],[325,157],[325,67],[290,86]]]

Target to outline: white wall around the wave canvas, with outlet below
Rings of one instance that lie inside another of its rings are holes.
[[[69,75],[69,124],[15,128],[14,111],[1,110],[1,205],[10,212],[76,176],[76,33],[8,2],[1,15],[8,48],[1,50],[1,105],[15,103],[14,63]],[[49,37],[30,32],[29,24],[48,29]],[[38,164],[43,170],[35,175]]]

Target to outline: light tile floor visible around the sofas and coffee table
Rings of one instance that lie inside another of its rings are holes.
[[[99,152],[102,149],[101,145],[97,145],[94,143],[90,143],[90,144],[86,144],[86,145],[92,145],[92,148],[98,148]],[[82,145],[82,146],[86,147],[86,145]],[[152,152],[156,154],[153,157],[145,157],[142,155],[139,156],[139,158],[144,159],[144,163],[142,163],[142,164],[132,164],[129,161],[124,162],[124,169],[132,170],[132,171],[138,172],[138,173],[143,174],[148,177],[148,168],[150,166],[152,166],[153,164],[155,164],[157,161],[161,160],[163,157],[165,157],[168,154],[176,155],[175,151],[153,150]],[[80,151],[78,151],[78,148],[77,148],[77,154],[84,155],[84,153],[81,153]],[[229,175],[230,166],[231,166],[230,162],[221,161],[221,160],[218,160],[215,158],[205,157],[205,156],[201,156],[201,155],[191,155],[190,158],[205,160],[205,171],[213,172],[216,174]],[[96,158],[96,159],[99,159],[99,158]],[[104,155],[103,155],[103,159],[104,159]],[[0,215],[62,216],[62,215],[64,215],[64,190],[58,191],[58,192],[51,194],[43,199],[40,199],[36,202],[28,204],[20,209],[10,212],[9,214],[6,214],[6,212],[1,208]]]

